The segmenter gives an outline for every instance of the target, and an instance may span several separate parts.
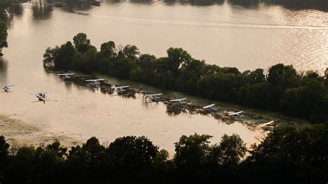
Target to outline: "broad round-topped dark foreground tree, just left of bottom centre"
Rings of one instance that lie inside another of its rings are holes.
[[[109,172],[120,183],[143,183],[157,154],[158,147],[145,136],[116,138],[106,150]]]

